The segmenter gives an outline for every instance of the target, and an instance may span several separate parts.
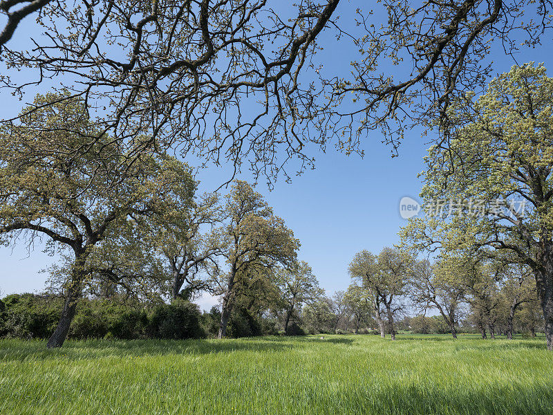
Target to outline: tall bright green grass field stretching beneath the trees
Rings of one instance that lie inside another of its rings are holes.
[[[0,414],[553,414],[543,339],[0,340]]]

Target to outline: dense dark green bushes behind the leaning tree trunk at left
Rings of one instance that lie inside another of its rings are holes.
[[[62,299],[32,294],[8,295],[0,305],[0,335],[48,338],[62,309]],[[184,300],[146,306],[118,299],[81,299],[69,338],[203,338],[198,306]]]

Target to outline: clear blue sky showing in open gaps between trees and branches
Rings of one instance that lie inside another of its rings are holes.
[[[351,10],[362,1],[344,2],[339,9],[341,21],[352,21]],[[21,33],[32,33],[32,24]],[[518,62],[545,62],[553,75],[553,48],[550,39],[546,46],[526,50]],[[337,47],[331,35],[321,40],[326,45],[319,59],[327,71],[346,71],[355,59],[353,48]],[[501,50],[492,56],[496,72],[508,71],[514,64]],[[28,100],[32,95],[28,96]],[[21,104],[5,91],[0,91],[0,111],[3,114],[19,111]],[[406,133],[400,155],[391,158],[391,149],[381,143],[375,133],[364,138],[364,158],[344,156],[329,147],[326,154],[315,154],[316,169],[293,178],[291,184],[279,181],[272,192],[261,185],[261,192],[274,211],[301,241],[300,259],[308,261],[328,294],[345,289],[349,284],[347,267],[355,252],[368,249],[379,252],[384,246],[398,241],[397,231],[404,223],[398,212],[402,196],[418,196],[421,183],[417,174],[422,171],[428,137],[422,131]],[[229,178],[228,169],[210,168],[200,172],[204,190],[214,190]],[[250,176],[241,176],[246,180]],[[24,248],[0,248],[0,290],[3,295],[40,291],[46,273],[39,273],[54,259],[41,252],[40,246],[28,253]],[[203,300],[203,306],[212,301]]]

